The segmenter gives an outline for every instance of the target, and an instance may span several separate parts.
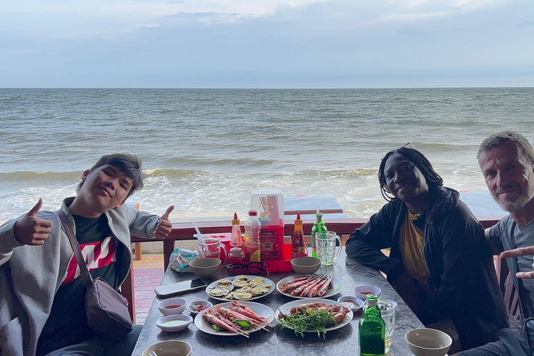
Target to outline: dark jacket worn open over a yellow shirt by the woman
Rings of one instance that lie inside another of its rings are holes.
[[[442,187],[432,206],[415,220],[425,234],[432,289],[416,316],[425,325],[452,320],[467,350],[496,341],[497,331],[508,327],[508,321],[484,229],[459,197]],[[398,199],[385,204],[346,243],[349,257],[382,270],[389,282],[405,271],[398,240],[406,209]],[[383,248],[391,248],[389,257],[380,252]]]

